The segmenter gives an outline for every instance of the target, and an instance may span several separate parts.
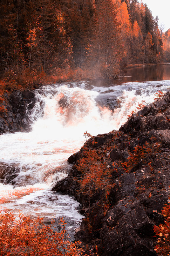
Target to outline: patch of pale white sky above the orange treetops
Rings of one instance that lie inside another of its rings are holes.
[[[143,0],[142,2],[151,9],[154,18],[158,16],[159,26],[164,24],[163,31],[167,31],[170,28],[170,0]]]

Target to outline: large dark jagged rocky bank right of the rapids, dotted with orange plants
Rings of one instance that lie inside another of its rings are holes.
[[[100,161],[107,163],[114,184],[107,210],[102,204],[102,191],[91,196],[89,222],[88,199],[78,192],[75,179],[81,176],[76,165],[85,148],[95,149]],[[137,162],[136,148],[143,150]],[[85,248],[88,244],[91,253],[96,252],[97,245],[101,256],[157,255],[153,226],[164,221],[160,213],[167,203],[170,185],[170,93],[133,114],[119,131],[89,139],[69,161],[76,164],[53,190],[74,195],[82,203],[86,218],[75,239],[82,241]]]

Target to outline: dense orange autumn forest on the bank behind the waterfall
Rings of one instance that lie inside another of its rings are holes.
[[[0,37],[0,77],[22,85],[163,58],[158,17],[137,0],[1,0]]]

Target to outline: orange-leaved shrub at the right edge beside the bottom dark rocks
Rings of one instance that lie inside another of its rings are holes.
[[[164,224],[159,224],[159,226],[154,226],[154,231],[157,236],[157,244],[154,251],[158,255],[167,256],[170,255],[170,205],[165,204],[162,209],[162,214],[164,215]]]

